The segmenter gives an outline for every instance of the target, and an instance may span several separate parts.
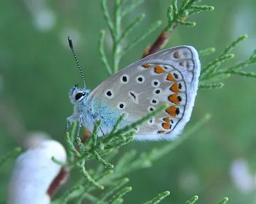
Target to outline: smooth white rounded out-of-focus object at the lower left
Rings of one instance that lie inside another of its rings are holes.
[[[47,189],[61,170],[52,156],[61,162],[67,160],[61,143],[53,140],[41,141],[18,156],[9,183],[8,204],[50,204]]]

